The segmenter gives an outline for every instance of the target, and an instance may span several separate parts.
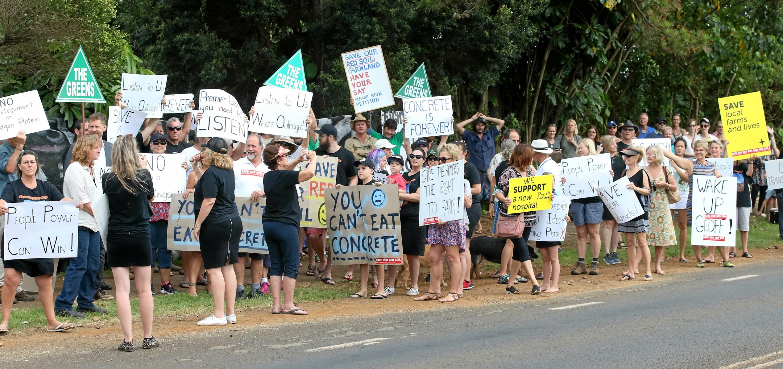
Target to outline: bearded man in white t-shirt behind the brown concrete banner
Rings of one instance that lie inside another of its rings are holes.
[[[269,168],[264,164],[262,160],[262,152],[264,147],[262,145],[263,139],[261,136],[251,134],[247,136],[247,144],[245,145],[245,154],[247,156],[234,161],[234,196],[236,197],[250,197],[251,201],[258,201],[259,198],[265,197],[264,194],[264,175],[269,172]],[[262,283],[266,282],[265,278],[262,279],[264,270],[269,269],[269,261],[264,262],[265,254],[256,254],[253,252],[240,253],[240,262],[234,264],[234,273],[236,274],[236,298],[245,298],[244,293],[244,258],[249,257],[250,260],[250,273],[251,273],[251,289],[247,294],[247,298],[254,296],[261,296]],[[267,291],[268,288],[267,288]]]

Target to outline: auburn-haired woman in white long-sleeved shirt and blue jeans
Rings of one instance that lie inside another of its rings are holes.
[[[79,210],[79,241],[75,258],[65,270],[63,290],[54,304],[55,313],[63,317],[85,317],[86,313],[106,314],[95,305],[95,277],[100,264],[100,233],[92,205],[103,195],[100,179],[96,178],[93,162],[98,160],[103,140],[98,135],[79,136],[74,156],[63,177],[63,195],[81,201]],[[77,297],[78,296],[78,297]],[[74,310],[74,298],[78,307]]]

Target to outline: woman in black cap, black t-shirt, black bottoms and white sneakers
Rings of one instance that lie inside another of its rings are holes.
[[[209,168],[196,183],[193,194],[196,208],[193,236],[199,241],[215,309],[211,316],[197,324],[226,325],[229,322],[236,323],[236,274],[232,264],[239,262],[242,219],[234,205],[233,161],[227,154],[229,145],[226,139],[212,137],[201,147],[207,148],[202,153],[202,160]]]

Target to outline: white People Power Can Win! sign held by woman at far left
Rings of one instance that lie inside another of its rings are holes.
[[[76,204],[76,201],[6,204],[3,258],[75,258],[79,244]]]

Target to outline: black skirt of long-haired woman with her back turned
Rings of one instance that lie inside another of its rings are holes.
[[[151,266],[150,232],[110,230],[106,236],[106,265],[110,268]]]

